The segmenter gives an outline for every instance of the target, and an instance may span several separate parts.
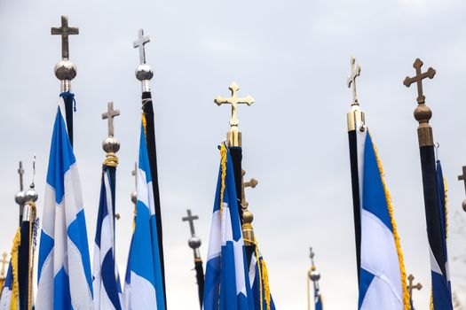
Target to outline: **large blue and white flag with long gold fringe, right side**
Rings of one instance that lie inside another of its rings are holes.
[[[408,309],[403,256],[382,164],[366,127],[359,128],[357,139],[362,191],[359,309]]]

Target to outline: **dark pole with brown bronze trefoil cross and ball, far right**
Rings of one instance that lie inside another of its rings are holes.
[[[440,208],[444,204],[441,199],[443,184],[438,184],[438,171],[436,167],[435,148],[432,128],[429,120],[432,117],[430,108],[425,105],[423,94],[423,80],[432,79],[436,71],[429,68],[423,73],[423,61],[415,59],[413,64],[415,76],[407,76],[403,81],[406,87],[417,85],[417,106],[415,108],[415,120],[418,121],[417,138],[421,157],[421,170],[423,174],[423,197],[427,226],[427,237],[430,246],[430,265],[432,274],[432,299],[437,309],[449,309],[452,305],[451,291],[449,291],[449,276],[446,264],[446,228]],[[443,182],[440,181],[440,182]],[[440,284],[441,283],[441,284]]]

